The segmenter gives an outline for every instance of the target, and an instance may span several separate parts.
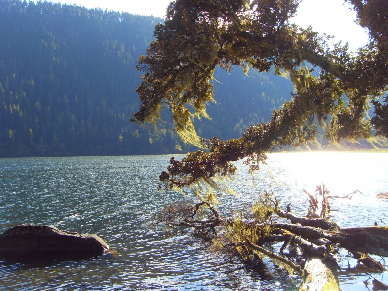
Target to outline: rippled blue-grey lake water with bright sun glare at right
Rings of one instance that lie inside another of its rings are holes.
[[[22,224],[46,224],[95,233],[111,247],[93,259],[17,263],[0,259],[1,290],[293,290],[298,283],[272,264],[245,266],[215,257],[209,245],[189,239],[188,231],[150,225],[151,215],[181,194],[157,190],[158,176],[170,156],[2,158],[0,232]],[[388,153],[270,154],[268,167],[255,174],[238,163],[234,190],[223,194],[228,209],[272,190],[291,210],[307,210],[306,189],[327,185],[348,199],[332,204],[340,227],[388,225]],[[187,193],[191,195],[189,192]],[[382,261],[380,258],[376,258]],[[351,260],[355,267],[356,261]],[[342,290],[366,290],[368,276],[341,265]],[[275,274],[272,274],[275,273]],[[388,283],[387,272],[374,274]],[[372,280],[370,280],[372,281]]]

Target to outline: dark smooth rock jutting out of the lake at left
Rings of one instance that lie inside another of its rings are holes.
[[[0,234],[0,256],[102,255],[109,246],[97,235],[62,231],[53,226],[23,224]]]

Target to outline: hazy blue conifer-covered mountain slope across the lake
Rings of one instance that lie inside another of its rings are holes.
[[[171,153],[169,113],[156,130],[130,123],[140,102],[137,58],[162,19],[78,6],[0,0],[0,157]],[[288,80],[235,69],[215,75],[206,138],[266,121],[290,98]],[[275,79],[276,78],[276,79]]]

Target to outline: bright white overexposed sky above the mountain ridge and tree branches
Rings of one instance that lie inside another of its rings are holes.
[[[131,14],[163,17],[172,0],[50,0],[62,4],[76,4],[85,8],[102,8]],[[36,2],[36,0],[35,0]],[[356,51],[368,41],[368,35],[354,20],[356,13],[348,9],[343,0],[302,0],[294,22],[301,27],[309,25],[315,31],[336,36],[349,42],[350,49]]]

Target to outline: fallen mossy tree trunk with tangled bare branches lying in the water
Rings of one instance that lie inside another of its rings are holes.
[[[196,233],[211,235],[214,249],[240,255],[247,262],[269,257],[303,278],[301,290],[339,290],[336,258],[341,248],[370,272],[386,271],[369,255],[388,257],[388,226],[340,228],[330,219],[328,193],[324,185],[317,186],[316,196],[307,193],[310,207],[306,216],[291,212],[290,205],[281,210],[275,196],[266,193],[250,205],[250,214],[240,212],[226,218],[208,201],[183,201],[166,205],[154,216],[154,223],[190,227]],[[288,259],[287,248],[295,246],[302,250],[301,258]]]

